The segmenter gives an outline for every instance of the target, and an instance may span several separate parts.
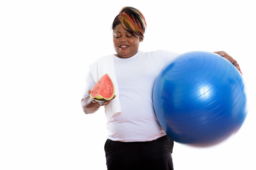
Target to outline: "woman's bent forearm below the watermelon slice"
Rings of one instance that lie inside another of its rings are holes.
[[[81,101],[81,107],[85,114],[90,114],[99,110],[101,105],[99,105],[99,102],[92,102],[92,99],[88,96]]]

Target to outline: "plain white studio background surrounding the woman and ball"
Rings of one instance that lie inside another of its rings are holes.
[[[132,6],[147,22],[140,50],[224,50],[247,83],[249,113],[227,142],[175,143],[175,170],[255,170],[255,5],[252,0],[0,2],[0,169],[106,170],[103,109],[80,106],[88,65],[114,53],[111,24]]]

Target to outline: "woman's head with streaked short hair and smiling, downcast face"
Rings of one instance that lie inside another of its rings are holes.
[[[132,7],[124,7],[115,17],[112,24],[113,43],[119,58],[128,58],[139,50],[139,42],[143,41],[146,21],[143,14]]]

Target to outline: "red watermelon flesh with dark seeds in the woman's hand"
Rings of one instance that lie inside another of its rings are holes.
[[[114,97],[114,94],[114,84],[110,76],[108,76],[108,74],[104,74],[92,88],[90,98],[102,102],[111,100]]]

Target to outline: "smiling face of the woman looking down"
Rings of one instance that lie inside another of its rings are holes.
[[[128,33],[121,24],[113,30],[113,43],[116,56],[120,58],[132,57],[139,50],[139,37]]]

